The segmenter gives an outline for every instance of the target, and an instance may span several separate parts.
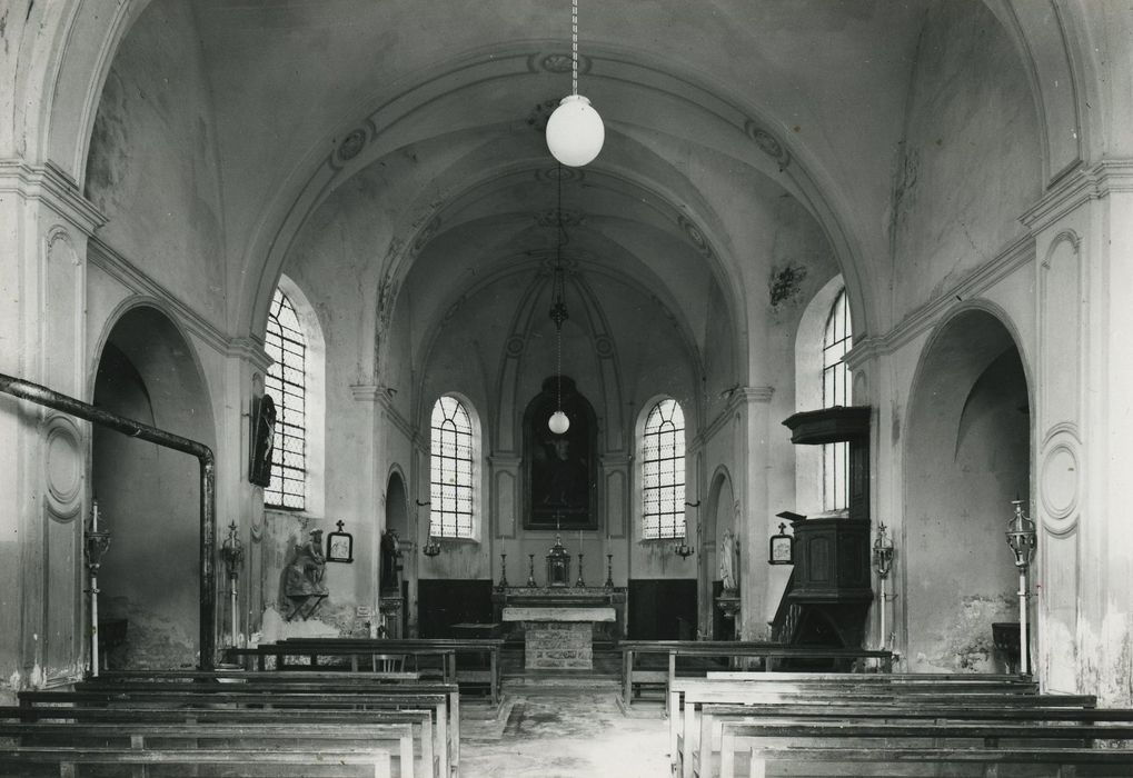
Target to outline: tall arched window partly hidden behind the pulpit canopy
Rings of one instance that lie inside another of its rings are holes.
[[[846,352],[853,347],[853,328],[846,290],[834,299],[823,333],[823,408],[850,404],[850,369]],[[823,510],[842,511],[850,504],[850,444],[823,446]]]

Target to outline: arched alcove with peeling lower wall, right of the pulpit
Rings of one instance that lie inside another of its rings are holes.
[[[991,624],[1017,621],[1004,542],[1011,501],[1029,496],[1026,373],[985,310],[952,318],[922,357],[905,444],[901,550],[910,668],[1003,672]]]

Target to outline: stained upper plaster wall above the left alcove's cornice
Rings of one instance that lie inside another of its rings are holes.
[[[212,101],[186,3],[155,2],[118,49],[95,116],[86,196],[101,238],[223,324],[224,222]]]

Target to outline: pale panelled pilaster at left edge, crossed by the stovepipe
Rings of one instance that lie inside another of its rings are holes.
[[[103,216],[53,165],[0,161],[0,371],[85,400],[86,245]],[[0,635],[0,677],[65,683],[83,673],[83,521],[90,428],[0,397],[0,587],[19,602]]]

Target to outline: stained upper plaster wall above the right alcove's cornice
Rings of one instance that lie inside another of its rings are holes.
[[[982,3],[929,10],[906,117],[889,214],[898,320],[1023,234],[1041,177],[1030,84]]]

